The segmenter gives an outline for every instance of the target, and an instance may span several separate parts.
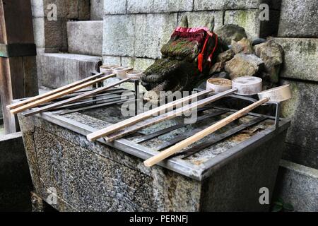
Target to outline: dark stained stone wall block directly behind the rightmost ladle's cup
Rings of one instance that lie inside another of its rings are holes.
[[[282,84],[290,84],[293,92],[293,98],[282,105],[282,117],[291,119],[284,158],[318,169],[318,85],[288,80],[282,80]]]

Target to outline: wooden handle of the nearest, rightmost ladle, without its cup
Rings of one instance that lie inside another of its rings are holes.
[[[173,145],[171,148],[167,148],[166,150],[159,153],[158,155],[155,155],[149,158],[148,160],[143,162],[143,164],[146,165],[146,167],[152,167],[153,165],[157,164],[158,162],[161,162],[162,160],[165,160],[167,157],[170,157],[171,155],[174,155],[175,153],[179,152],[183,148],[186,148],[192,143],[195,143],[196,141],[201,140],[202,138],[217,131],[218,129],[221,129],[223,126],[230,124],[232,121],[239,119],[240,117],[244,116],[248,112],[252,111],[252,109],[259,107],[260,105],[263,105],[266,102],[269,102],[269,98],[264,98],[262,100],[254,102],[252,105],[249,105],[241,109],[240,111],[235,112],[234,114],[231,114],[229,117],[226,117],[225,119],[218,121],[216,124],[213,124],[212,126],[209,126],[203,131],[196,133],[194,136],[191,136],[185,139],[184,141],[181,141],[177,143],[176,145]]]

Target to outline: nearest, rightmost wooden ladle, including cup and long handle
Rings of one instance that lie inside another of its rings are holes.
[[[244,90],[240,90],[240,91],[244,92]],[[176,145],[173,145],[171,148],[167,148],[166,150],[159,153],[158,155],[155,155],[149,158],[148,160],[143,162],[144,165],[146,165],[146,167],[152,167],[158,162],[165,160],[167,157],[170,157],[171,155],[178,153],[180,150],[182,150],[183,148],[186,148],[192,143],[195,143],[196,141],[201,140],[202,138],[217,131],[218,129],[221,129],[223,126],[230,124],[232,121],[235,121],[236,119],[239,119],[240,117],[245,116],[248,112],[252,111],[252,109],[259,107],[260,105],[264,105],[266,102],[269,102],[269,101],[283,102],[285,100],[289,100],[292,97],[291,91],[290,91],[290,85],[283,85],[277,88],[266,90],[264,92],[259,93],[258,95],[260,99],[259,101],[254,102],[252,105],[249,105],[241,109],[240,111],[235,112],[234,114],[231,114],[229,117],[226,117],[225,119],[218,121],[216,124],[213,124],[212,126],[209,126],[208,128],[200,131],[199,133],[196,133],[194,136],[191,136],[185,139],[184,141],[181,141],[177,143]]]

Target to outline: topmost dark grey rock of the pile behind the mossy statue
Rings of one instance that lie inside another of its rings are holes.
[[[218,34],[226,45],[230,45],[232,40],[240,41],[242,38],[247,37],[245,29],[234,24],[223,25],[216,30],[216,34]]]

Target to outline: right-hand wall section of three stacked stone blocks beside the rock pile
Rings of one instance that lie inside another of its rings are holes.
[[[318,3],[283,0],[278,37],[283,46],[281,83],[290,84],[293,99],[283,104],[292,120],[285,160],[318,169]]]

